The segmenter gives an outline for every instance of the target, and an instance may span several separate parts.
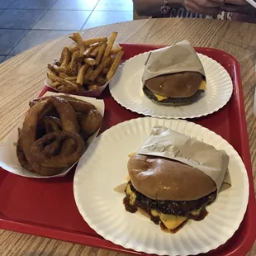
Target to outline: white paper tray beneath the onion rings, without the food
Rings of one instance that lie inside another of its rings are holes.
[[[46,92],[43,97],[50,96],[50,95],[61,95],[61,94],[64,94],[64,93]],[[65,95],[67,95],[67,94],[65,94]],[[92,103],[97,108],[97,110],[100,111],[102,116],[104,115],[105,106],[104,106],[104,101],[103,100],[97,100],[97,99],[94,99],[92,97],[81,97],[81,96],[80,97],[79,96],[72,96],[72,97],[76,97],[78,99],[81,99],[81,100],[84,100],[86,102]],[[12,130],[11,134],[7,137],[7,140],[5,140],[3,142],[3,144],[1,145],[1,147],[0,147],[0,166],[3,169],[10,172],[10,173],[15,173],[17,175],[27,177],[27,178],[54,178],[54,177],[62,177],[62,176],[65,176],[67,173],[69,173],[69,170],[73,166],[70,167],[70,168],[64,169],[63,173],[59,173],[59,174],[54,175],[54,176],[41,176],[40,174],[31,173],[31,172],[29,172],[26,169],[21,167],[21,164],[19,163],[19,161],[17,159],[16,146],[15,145],[16,145],[17,140],[18,140],[18,128],[22,127],[23,121],[24,121],[24,117],[19,122],[17,127]],[[92,145],[92,142],[97,137],[97,134],[98,134],[99,130],[97,130],[97,132],[94,135],[92,135],[90,138],[88,138],[87,143],[86,143],[86,148],[87,149],[90,145]],[[86,152],[84,154],[86,154]]]

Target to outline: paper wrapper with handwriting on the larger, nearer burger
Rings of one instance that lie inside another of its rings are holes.
[[[211,177],[218,192],[224,181],[231,185],[230,176],[226,175],[230,157],[224,150],[217,150],[211,145],[164,126],[154,126],[149,139],[137,154],[173,159],[198,168]]]

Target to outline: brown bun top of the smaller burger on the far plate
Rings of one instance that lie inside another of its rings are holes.
[[[162,74],[147,80],[145,86],[165,97],[191,97],[200,87],[202,78],[198,72]]]

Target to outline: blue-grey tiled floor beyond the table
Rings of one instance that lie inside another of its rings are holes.
[[[132,17],[132,0],[0,0],[0,63],[46,40]]]

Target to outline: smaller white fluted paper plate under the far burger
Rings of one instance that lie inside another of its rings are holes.
[[[145,116],[176,119],[209,115],[224,107],[230,100],[233,83],[229,73],[215,60],[198,54],[205,69],[207,85],[206,92],[197,102],[181,107],[161,106],[152,102],[145,97],[141,82],[148,55],[147,52],[128,59],[112,78],[110,92],[121,106]]]

